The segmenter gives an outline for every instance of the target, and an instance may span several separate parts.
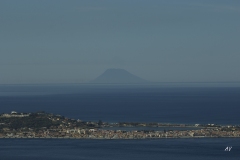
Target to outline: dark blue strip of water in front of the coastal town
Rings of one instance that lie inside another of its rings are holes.
[[[239,160],[240,139],[0,139],[3,160]],[[231,146],[230,151],[224,151]]]

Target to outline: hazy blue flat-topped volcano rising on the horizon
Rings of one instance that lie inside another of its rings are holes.
[[[91,83],[148,83],[148,81],[139,78],[124,69],[107,69]]]

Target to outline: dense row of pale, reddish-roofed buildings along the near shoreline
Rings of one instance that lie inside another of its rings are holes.
[[[240,137],[239,128],[205,128],[199,130],[104,130],[104,128],[42,128],[39,131],[23,129],[22,131],[5,130],[1,138],[85,138],[85,139],[146,139],[146,138],[201,138],[201,137]]]

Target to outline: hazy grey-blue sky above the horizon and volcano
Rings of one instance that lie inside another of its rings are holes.
[[[240,81],[239,0],[0,0],[0,84]]]

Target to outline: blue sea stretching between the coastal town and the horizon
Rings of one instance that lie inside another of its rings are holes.
[[[240,124],[240,87],[0,86],[0,113],[91,121]]]

